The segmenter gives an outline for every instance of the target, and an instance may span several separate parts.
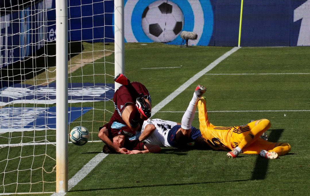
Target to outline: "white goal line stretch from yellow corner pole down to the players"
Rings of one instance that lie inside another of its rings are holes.
[[[205,73],[210,71],[212,68],[214,68],[216,65],[218,65],[222,60],[226,59],[229,55],[236,52],[239,49],[239,47],[234,47],[230,51],[226,52],[222,56],[220,56],[218,59],[213,61],[210,65],[208,65],[205,69],[201,70],[197,74],[195,74],[193,77],[191,77],[188,81],[186,81],[183,85],[181,85],[177,90],[175,90],[173,93],[168,95],[164,100],[159,102],[156,106],[152,108],[152,115],[151,117],[156,114],[156,112],[160,111],[164,106],[167,105],[172,99],[174,99],[176,96],[178,96],[180,93],[182,93],[188,86],[193,84],[198,78],[203,76]]]

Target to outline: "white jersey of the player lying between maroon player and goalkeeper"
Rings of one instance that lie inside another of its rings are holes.
[[[167,140],[168,132],[172,127],[177,125],[177,123],[162,119],[148,119],[144,121],[141,133],[143,133],[145,126],[148,124],[153,124],[156,130],[144,141],[149,144],[156,144],[160,147],[171,147]]]

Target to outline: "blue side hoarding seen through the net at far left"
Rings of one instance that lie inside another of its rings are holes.
[[[0,17],[0,68],[24,60],[44,47],[52,1],[41,1]],[[44,10],[44,11],[43,11]],[[55,19],[53,22],[55,23]]]

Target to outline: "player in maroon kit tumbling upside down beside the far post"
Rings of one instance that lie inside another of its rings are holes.
[[[139,82],[130,82],[124,74],[118,74],[114,80],[120,86],[114,93],[115,111],[110,121],[99,128],[99,138],[119,153],[126,153],[125,148],[113,144],[114,136],[134,136],[140,131],[144,120],[151,116],[151,96],[146,87]],[[122,127],[122,130],[120,128]]]

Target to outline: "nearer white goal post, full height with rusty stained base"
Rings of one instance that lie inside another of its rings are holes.
[[[56,192],[68,192],[68,3],[56,1]]]

